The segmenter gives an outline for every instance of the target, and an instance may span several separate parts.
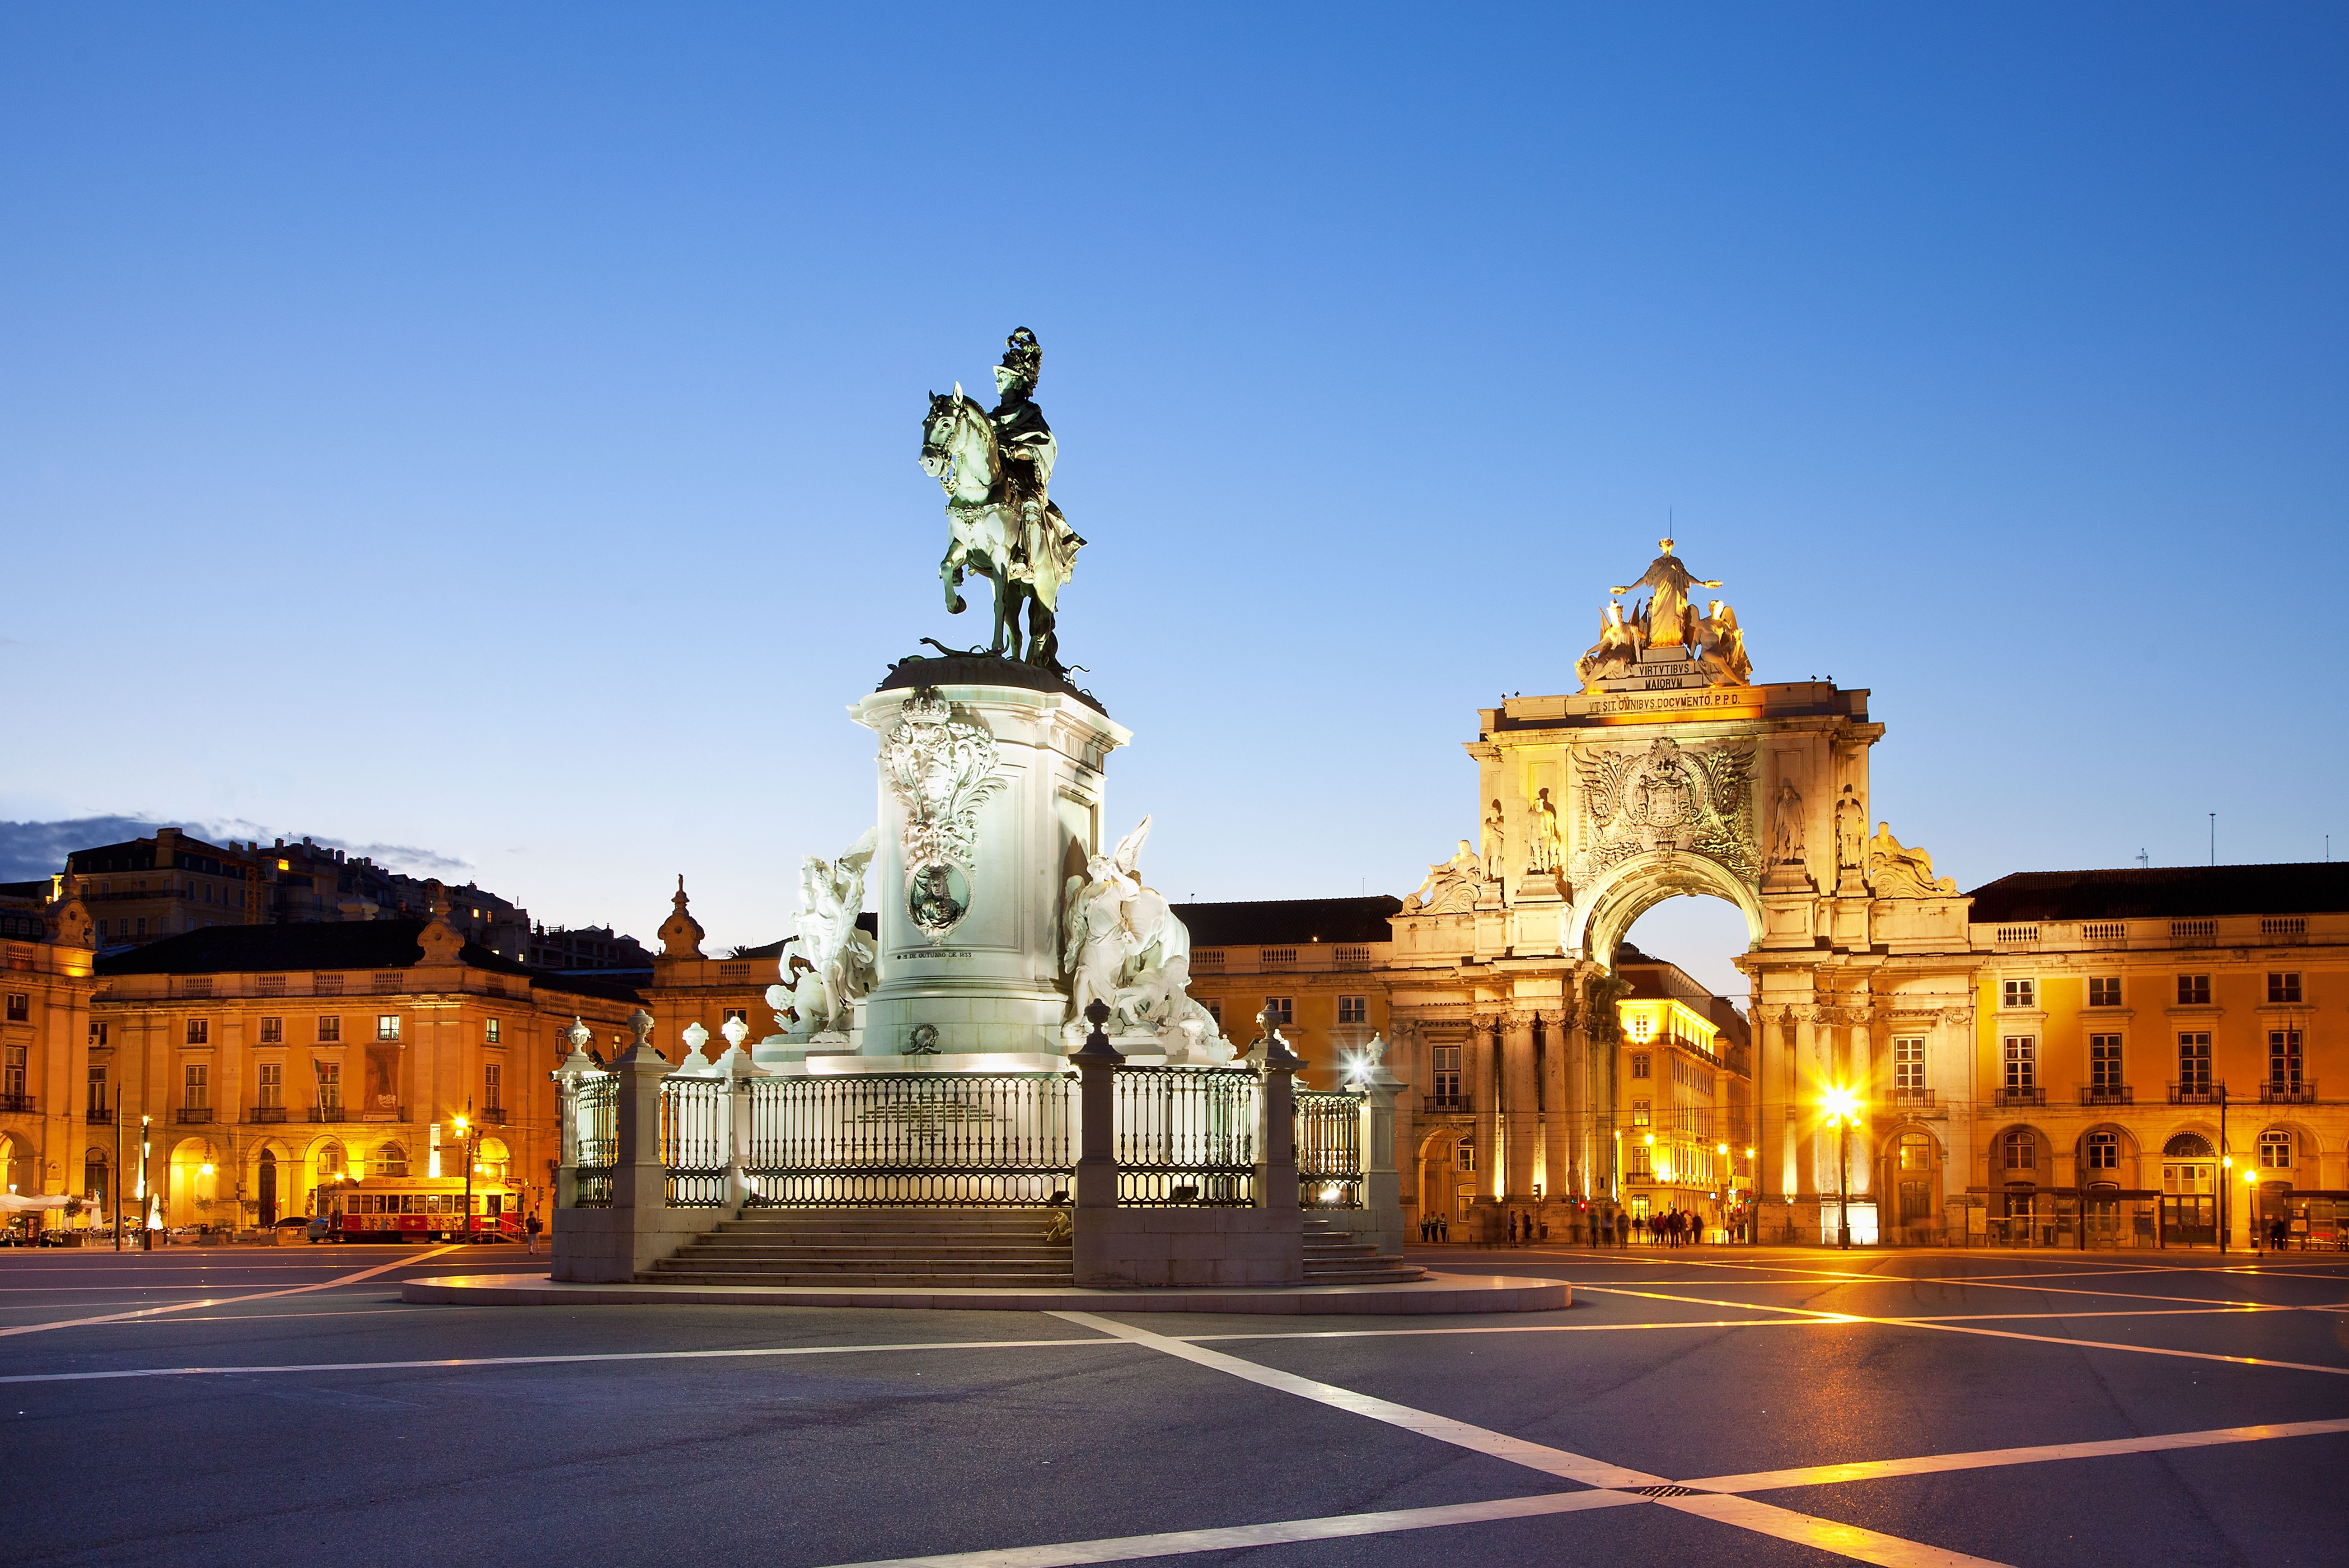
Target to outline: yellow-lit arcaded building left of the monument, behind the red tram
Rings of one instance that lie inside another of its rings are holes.
[[[101,1223],[117,1192],[139,1214],[141,1117],[169,1225],[310,1214],[341,1174],[460,1176],[451,1117],[467,1110],[484,1174],[545,1202],[564,1030],[590,1023],[608,1056],[637,1009],[630,986],[465,941],[446,906],[430,920],[204,927],[106,958],[89,927],[68,887],[49,939],[9,944],[0,1030],[9,1082],[21,1070],[26,1087],[0,1101],[0,1136],[38,1190],[103,1199]]]

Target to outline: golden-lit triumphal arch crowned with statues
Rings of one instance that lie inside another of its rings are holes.
[[[1663,540],[1611,589],[1579,692],[1480,709],[1478,838],[1393,918],[1398,1056],[1435,1089],[1407,1148],[1475,1150],[1454,1225],[1588,1235],[1621,1202],[1626,1138],[1649,1131],[1628,1124],[1616,953],[1670,897],[1745,918],[1752,1049],[1719,1063],[1698,1136],[1729,1145],[1719,1188],[1759,1235],[1832,1232],[1839,1190],[1875,1232],[1867,1150],[1926,1110],[1900,1103],[1896,1038],[1917,1082],[1971,1073],[1966,899],[1875,817],[1867,692],[1755,683],[1731,606],[1691,599],[1717,587]],[[1837,1089],[1867,1124],[1823,1120]]]

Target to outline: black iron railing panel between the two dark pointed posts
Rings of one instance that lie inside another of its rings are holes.
[[[1120,1207],[1254,1207],[1252,1068],[1118,1068],[1111,1089]]]

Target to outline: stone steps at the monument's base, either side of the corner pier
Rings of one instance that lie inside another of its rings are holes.
[[[648,1284],[1073,1286],[1050,1209],[756,1209],[660,1258]],[[1306,1284],[1426,1279],[1330,1221],[1304,1221]]]

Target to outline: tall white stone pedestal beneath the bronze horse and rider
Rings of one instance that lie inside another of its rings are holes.
[[[850,714],[881,737],[881,958],[853,1070],[1057,1070],[1062,883],[1099,850],[1102,763],[1132,732],[987,657],[904,660]]]

